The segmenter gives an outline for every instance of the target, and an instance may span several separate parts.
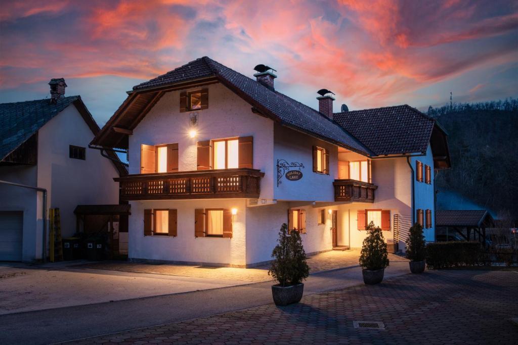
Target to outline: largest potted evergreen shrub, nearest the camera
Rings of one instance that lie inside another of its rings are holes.
[[[275,304],[285,306],[297,303],[302,298],[302,281],[309,276],[309,266],[300,234],[297,231],[288,232],[286,223],[281,226],[277,242],[278,245],[271,253],[274,261],[268,274],[278,282],[271,287]]]

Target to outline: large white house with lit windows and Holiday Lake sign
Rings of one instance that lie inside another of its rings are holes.
[[[406,105],[333,114],[327,90],[316,111],[256,71],[199,58],[133,87],[94,138],[128,150],[115,180],[130,259],[251,267],[282,223],[310,254],[361,247],[370,221],[391,250],[413,221],[434,241],[434,175],[450,165],[434,119]]]

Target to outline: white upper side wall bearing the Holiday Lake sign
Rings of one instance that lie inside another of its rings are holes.
[[[329,151],[329,175],[313,172],[313,146]],[[304,164],[303,177],[298,181],[288,181],[284,176],[277,187],[275,175],[274,197],[277,200],[335,201],[333,181],[338,178],[338,148],[321,140],[290,128],[275,125],[274,161],[284,159],[288,163]],[[295,169],[296,170],[296,169]]]

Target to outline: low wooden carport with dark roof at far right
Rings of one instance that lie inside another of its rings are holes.
[[[446,228],[461,235],[466,241],[478,241],[485,245],[486,228],[494,224],[491,214],[485,209],[435,211],[435,228]],[[466,230],[466,232],[464,232]],[[471,238],[471,233],[473,238]],[[478,235],[478,238],[477,238]]]

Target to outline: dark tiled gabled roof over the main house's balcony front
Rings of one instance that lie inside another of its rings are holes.
[[[145,116],[143,112],[149,111],[149,102],[156,102],[160,99],[160,93],[163,92],[164,87],[208,77],[214,77],[215,81],[221,82],[249,102],[260,113],[274,119],[274,121],[279,122],[281,125],[306,132],[324,141],[333,142],[364,155],[371,154],[369,149],[351,136],[350,133],[320,112],[277,91],[272,91],[263,84],[243,76],[243,74],[207,56],[198,58],[148,82],[134,86],[134,91],[130,92],[128,99],[109,119],[99,135],[92,141],[92,144],[107,147],[123,147],[127,145],[125,143],[122,144],[125,141],[124,134],[113,130],[110,131],[110,128],[120,127],[133,130],[141,117]],[[148,93],[152,96],[149,96],[147,100],[140,101],[135,96],[135,93],[140,95]],[[156,94],[156,97],[154,94]],[[132,118],[124,118],[125,114],[129,114],[128,116]],[[110,136],[118,138],[110,139]]]

